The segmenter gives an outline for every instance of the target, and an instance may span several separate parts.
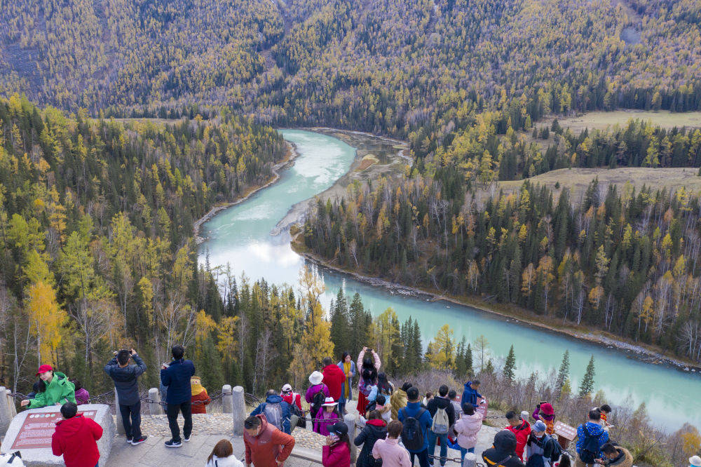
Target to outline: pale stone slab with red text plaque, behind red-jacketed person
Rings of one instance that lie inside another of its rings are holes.
[[[0,454],[20,451],[25,466],[64,465],[63,456],[54,456],[51,452],[53,425],[55,421],[61,419],[60,411],[60,406],[53,405],[25,410],[15,415],[0,446]],[[109,457],[116,431],[109,405],[79,405],[78,413],[82,412],[102,426],[102,438],[97,440],[97,448],[100,449],[100,464],[104,465]],[[36,447],[27,447],[30,445]]]

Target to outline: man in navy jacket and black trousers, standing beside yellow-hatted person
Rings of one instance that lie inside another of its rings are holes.
[[[161,367],[161,383],[168,386],[168,394],[165,402],[168,402],[168,425],[172,438],[165,442],[165,447],[181,447],[180,428],[177,424],[177,414],[182,412],[185,422],[182,426],[183,439],[190,440],[192,434],[191,398],[192,390],[190,378],[195,375],[195,365],[192,360],[185,360],[185,349],[176,345],[170,351],[173,359],[170,363],[164,363]]]

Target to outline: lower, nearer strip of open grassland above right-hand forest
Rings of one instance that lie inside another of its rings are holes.
[[[579,201],[587,186],[597,177],[599,187],[602,189],[611,184],[616,184],[622,189],[626,182],[630,182],[637,190],[646,185],[653,189],[667,188],[672,191],[685,187],[688,190],[699,192],[701,191],[701,177],[697,176],[697,173],[697,168],[564,168],[542,173],[530,177],[528,180],[537,184],[545,184],[553,189],[556,199],[560,191],[567,187],[570,189],[573,201]],[[523,182],[523,180],[498,182],[498,189],[503,189],[505,193],[511,193],[521,187]],[[558,188],[555,188],[558,183]]]

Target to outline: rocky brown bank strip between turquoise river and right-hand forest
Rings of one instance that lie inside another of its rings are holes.
[[[364,276],[361,273],[343,269],[339,266],[334,266],[329,264],[329,262],[327,262],[325,259],[318,257],[318,255],[313,255],[313,253],[306,251],[304,245],[301,243],[301,241],[299,241],[299,235],[292,238],[291,246],[292,250],[297,252],[298,255],[304,257],[304,259],[306,259],[308,262],[322,267],[322,269],[329,269],[335,271],[336,273],[351,276],[353,279],[358,280],[358,282],[366,283],[374,287],[383,287],[389,290],[390,294],[396,293],[407,297],[426,299],[432,302],[449,302],[459,306],[470,306],[479,311],[500,316],[501,318],[505,318],[505,320],[514,320],[519,323],[519,325],[536,327],[547,332],[563,334],[573,339],[587,341],[591,344],[597,344],[606,348],[616,348],[619,351],[628,353],[629,358],[635,358],[645,363],[651,363],[653,365],[667,365],[669,367],[674,367],[679,371],[701,374],[701,366],[695,363],[667,356],[664,353],[661,353],[658,348],[653,348],[652,346],[641,346],[640,344],[620,340],[618,337],[613,336],[613,334],[608,334],[601,330],[583,332],[581,329],[585,327],[545,323],[539,320],[539,317],[534,313],[511,304],[489,304],[479,297],[457,297],[446,295],[440,291],[409,287],[407,285],[393,283],[381,278]]]

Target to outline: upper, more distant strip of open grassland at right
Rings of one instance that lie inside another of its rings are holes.
[[[571,116],[566,119],[557,119],[562,128],[570,128],[573,133],[580,133],[585,128],[590,130],[605,129],[609,126],[619,124],[624,126],[630,119],[651,121],[655,126],[663,128],[674,128],[686,126],[688,128],[701,128],[701,112],[670,112],[642,111],[642,110],[618,110],[611,112],[596,111],[587,112],[579,116]],[[554,117],[549,117],[538,124],[538,127],[550,126]]]

